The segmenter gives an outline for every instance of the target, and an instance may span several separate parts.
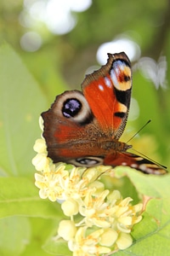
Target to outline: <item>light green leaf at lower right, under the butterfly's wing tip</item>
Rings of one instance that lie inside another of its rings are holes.
[[[121,173],[122,169],[117,168]],[[126,168],[127,176],[141,195],[150,196],[143,219],[133,228],[133,245],[114,255],[167,255],[170,251],[170,175],[144,175]]]

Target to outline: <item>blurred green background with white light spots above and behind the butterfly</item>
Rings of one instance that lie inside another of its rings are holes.
[[[0,9],[1,42],[20,55],[49,105],[63,90],[80,89],[88,67],[105,63],[107,52],[124,50],[137,101],[130,126],[138,131],[152,119],[140,136],[149,134],[155,148],[136,149],[169,165],[170,1],[2,0]]]

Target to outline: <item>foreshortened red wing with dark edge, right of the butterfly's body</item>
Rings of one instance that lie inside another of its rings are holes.
[[[106,166],[129,166],[146,174],[162,175],[167,173],[165,166],[158,166],[156,163],[144,159],[142,156],[131,153],[110,154],[105,157]]]

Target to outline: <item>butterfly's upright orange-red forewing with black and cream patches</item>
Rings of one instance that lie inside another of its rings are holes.
[[[132,74],[125,53],[108,55],[107,64],[84,79],[82,92],[101,130],[119,139],[127,122]]]

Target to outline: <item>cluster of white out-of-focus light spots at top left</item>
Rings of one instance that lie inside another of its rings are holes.
[[[71,32],[77,25],[76,12],[85,11],[91,4],[92,0],[25,0],[19,17],[20,25],[39,33],[40,38],[42,33],[44,34],[45,27],[49,32],[62,35]],[[28,44],[26,44],[26,38],[29,38]],[[37,42],[38,39],[27,33],[20,39],[20,45],[26,51],[37,50]],[[39,47],[41,47],[40,43]]]

